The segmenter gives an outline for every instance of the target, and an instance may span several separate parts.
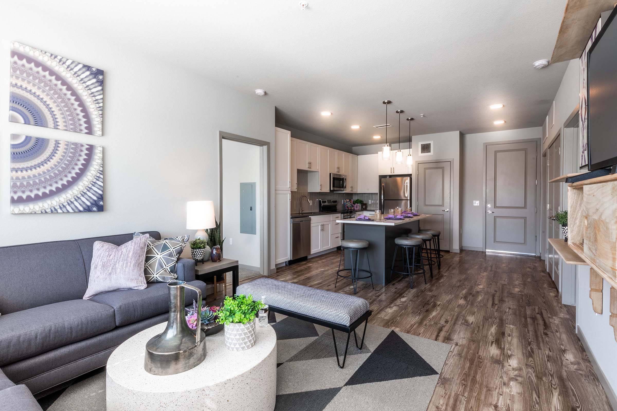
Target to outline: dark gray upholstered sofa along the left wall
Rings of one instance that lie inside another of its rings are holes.
[[[160,239],[159,232],[147,234]],[[104,366],[120,343],[167,320],[166,283],[82,299],[93,243],[132,239],[122,234],[0,248],[0,370],[10,381],[43,393]],[[176,274],[205,296],[192,259],[181,258]],[[186,304],[194,297],[186,293]]]

